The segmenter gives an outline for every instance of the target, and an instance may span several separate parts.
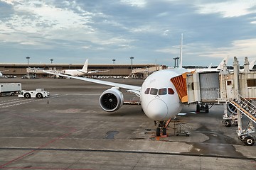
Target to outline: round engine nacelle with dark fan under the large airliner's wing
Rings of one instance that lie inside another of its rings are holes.
[[[117,111],[124,103],[124,96],[119,89],[112,87],[100,95],[100,106],[104,111]]]

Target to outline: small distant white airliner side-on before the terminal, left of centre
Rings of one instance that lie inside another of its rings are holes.
[[[85,64],[82,67],[82,69],[64,69],[64,70],[61,71],[61,74],[65,74],[65,75],[69,75],[69,76],[73,76],[73,77],[82,77],[85,74],[92,74],[92,73],[98,73],[98,72],[108,72],[108,70],[87,71],[87,67],[88,67],[88,59],[85,61]]]

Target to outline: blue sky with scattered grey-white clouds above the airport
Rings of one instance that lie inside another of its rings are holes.
[[[0,0],[0,63],[217,66],[256,59],[255,0]]]

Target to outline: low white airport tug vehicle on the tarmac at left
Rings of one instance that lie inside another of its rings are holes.
[[[36,89],[35,91],[22,90],[21,94],[18,94],[19,98],[46,98],[50,95],[48,91],[44,89]]]

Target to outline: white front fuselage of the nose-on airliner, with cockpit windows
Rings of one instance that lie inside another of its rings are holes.
[[[173,69],[154,72],[146,78],[141,89],[142,109],[152,120],[163,121],[174,118],[181,109],[181,101],[170,79],[178,74]]]

